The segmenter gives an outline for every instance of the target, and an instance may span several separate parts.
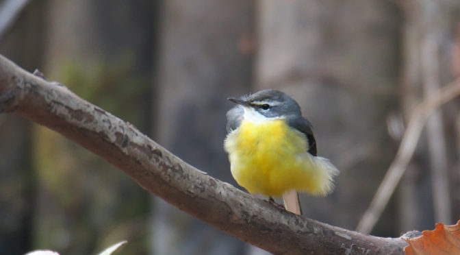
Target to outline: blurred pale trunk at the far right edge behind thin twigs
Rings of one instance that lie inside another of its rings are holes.
[[[433,90],[458,76],[460,56],[455,55],[455,41],[460,24],[460,3],[455,1],[405,1],[403,42],[405,62],[403,66],[403,112],[409,118],[413,108],[423,97],[430,97]],[[458,42],[457,42],[458,43]],[[459,47],[457,45],[457,47]],[[452,72],[452,73],[451,73]],[[453,74],[453,75],[452,75]],[[433,221],[455,223],[452,207],[459,208],[458,165],[452,153],[459,144],[459,130],[455,130],[455,114],[458,104],[438,110],[426,125],[411,167],[400,189],[400,228],[405,232],[413,229],[432,228]],[[446,114],[450,114],[446,118]],[[449,189],[453,187],[453,189]],[[450,198],[452,195],[452,199]]]

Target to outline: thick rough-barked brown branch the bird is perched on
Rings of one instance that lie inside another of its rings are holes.
[[[212,178],[133,125],[3,56],[0,112],[16,112],[59,132],[123,170],[146,191],[273,254],[403,254],[402,239],[366,236],[294,215]]]

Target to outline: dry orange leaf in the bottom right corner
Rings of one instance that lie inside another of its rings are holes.
[[[424,230],[421,236],[405,239],[406,255],[460,254],[460,221],[456,225],[437,223],[435,230]]]

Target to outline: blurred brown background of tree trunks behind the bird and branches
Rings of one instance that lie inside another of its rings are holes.
[[[452,0],[0,1],[1,54],[225,182],[235,184],[222,149],[226,98],[289,93],[314,125],[318,154],[341,171],[329,197],[301,197],[304,215],[348,229],[413,108],[460,75],[459,27]],[[455,223],[459,155],[457,100],[429,120],[372,234]],[[121,240],[120,254],[261,253],[59,134],[0,114],[0,254],[96,254]]]

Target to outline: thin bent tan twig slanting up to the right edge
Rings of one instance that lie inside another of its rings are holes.
[[[460,78],[432,93],[430,98],[424,99],[424,101],[413,111],[409,119],[409,125],[407,125],[407,130],[399,146],[398,153],[396,154],[396,158],[394,158],[392,164],[389,166],[387,174],[385,178],[383,178],[379,189],[377,189],[368,210],[366,210],[361,221],[359,221],[357,226],[358,232],[368,234],[372,228],[374,228],[375,223],[379,219],[389,198],[394,193],[396,186],[407,169],[407,165],[416,149],[418,138],[420,137],[424,123],[426,123],[426,119],[428,119],[436,108],[446,104],[458,95],[460,95]]]

